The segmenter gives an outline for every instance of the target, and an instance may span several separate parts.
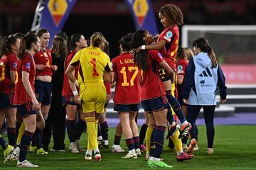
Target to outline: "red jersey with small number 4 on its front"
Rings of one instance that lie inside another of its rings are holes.
[[[34,55],[34,60],[36,64],[43,64],[46,66],[46,69],[38,70],[36,69],[36,76],[52,76],[53,69],[52,69],[52,58],[50,55],[50,50],[46,50],[46,55],[43,54],[43,51],[36,52]]]

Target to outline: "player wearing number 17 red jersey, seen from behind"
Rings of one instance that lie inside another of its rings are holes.
[[[129,43],[132,33],[120,40],[121,55],[112,60],[112,83],[115,81],[114,111],[119,114],[119,120],[124,132],[125,142],[129,149],[123,158],[137,158],[139,149],[139,132],[135,117],[139,111],[141,99],[140,70],[134,64],[134,56],[130,53]]]

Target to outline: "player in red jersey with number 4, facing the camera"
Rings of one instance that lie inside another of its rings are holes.
[[[44,120],[48,117],[48,112],[50,110],[50,102],[51,102],[51,95],[52,95],[52,75],[53,70],[57,70],[58,68],[52,65],[52,58],[50,55],[50,50],[46,50],[50,40],[50,33],[48,30],[44,28],[39,28],[36,30],[36,35],[41,42],[41,50],[36,52],[34,59],[36,63],[36,81],[35,81],[35,91],[36,91],[36,98],[40,104],[40,110],[43,114]],[[43,126],[44,128],[44,126]],[[38,154],[48,154],[43,149],[42,146],[42,130],[43,128],[36,128],[35,135],[33,137],[33,143],[31,150],[37,149]],[[34,147],[33,145],[36,145]]]

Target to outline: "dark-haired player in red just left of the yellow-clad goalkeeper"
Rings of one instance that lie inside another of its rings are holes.
[[[70,49],[72,50],[68,57],[65,59],[65,69],[70,64],[70,61],[73,59],[75,54],[82,50],[84,47],[87,47],[87,41],[85,40],[84,36],[81,34],[73,34],[69,40],[70,42]],[[79,65],[75,67],[75,70],[72,74],[75,76],[75,79],[78,79],[78,70],[80,69]],[[65,70],[64,70],[65,72]],[[78,111],[78,104],[80,104],[80,98],[78,94],[78,89],[76,88],[75,84],[73,84],[66,74],[64,74],[64,81],[63,81],[63,106],[65,106],[65,111],[67,115],[66,119],[66,126],[68,131],[68,139],[70,140],[70,149],[72,153],[78,153],[78,141],[82,132],[78,132],[76,129],[76,119],[77,119],[77,111]],[[78,120],[80,123],[80,120]],[[85,125],[83,125],[85,127]],[[80,130],[81,131],[81,130]]]

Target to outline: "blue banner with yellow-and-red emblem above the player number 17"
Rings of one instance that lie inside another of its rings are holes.
[[[136,28],[149,30],[149,33],[156,35],[159,33],[156,26],[156,18],[151,0],[125,0],[132,12]]]

